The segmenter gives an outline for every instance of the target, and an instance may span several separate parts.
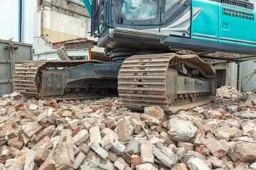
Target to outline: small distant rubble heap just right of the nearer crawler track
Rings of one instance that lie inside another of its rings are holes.
[[[216,97],[217,99],[222,100],[230,100],[235,98],[241,98],[242,92],[235,89],[235,87],[232,86],[222,86],[217,89]]]

